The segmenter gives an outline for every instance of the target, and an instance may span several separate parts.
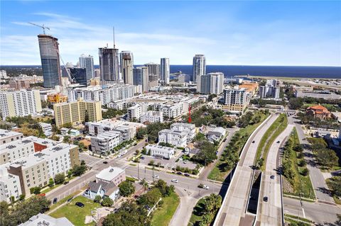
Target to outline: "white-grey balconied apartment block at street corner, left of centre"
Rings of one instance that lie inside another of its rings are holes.
[[[121,143],[121,133],[117,131],[107,131],[91,137],[91,150],[96,154],[110,154],[114,147]]]

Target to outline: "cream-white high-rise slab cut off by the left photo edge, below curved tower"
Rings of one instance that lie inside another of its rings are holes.
[[[0,92],[0,115],[4,120],[6,117],[33,115],[40,111],[38,90]]]

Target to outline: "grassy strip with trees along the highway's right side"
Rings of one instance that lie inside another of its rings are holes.
[[[294,129],[293,132],[291,133],[290,139],[293,141],[294,145],[300,143],[298,140],[296,129]],[[298,159],[298,152],[292,151],[290,158],[291,162],[295,163],[293,169],[295,169],[297,177],[295,179],[296,182],[293,184],[294,192],[288,194],[293,196],[300,196],[300,193],[303,193],[303,197],[315,199],[315,193],[313,190],[313,185],[311,184],[310,181],[310,176],[309,175],[303,176],[301,174],[301,172],[303,171],[303,169],[306,168],[306,166],[303,167],[298,166],[298,162],[300,161],[300,159]]]

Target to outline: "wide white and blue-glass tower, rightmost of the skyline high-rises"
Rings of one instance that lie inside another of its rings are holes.
[[[224,74],[214,72],[200,76],[200,94],[221,94],[224,84]]]

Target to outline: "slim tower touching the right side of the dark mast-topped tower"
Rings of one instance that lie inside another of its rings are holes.
[[[134,67],[134,57],[133,53],[130,51],[121,52],[121,74],[124,84],[134,84],[133,81],[133,67]]]

